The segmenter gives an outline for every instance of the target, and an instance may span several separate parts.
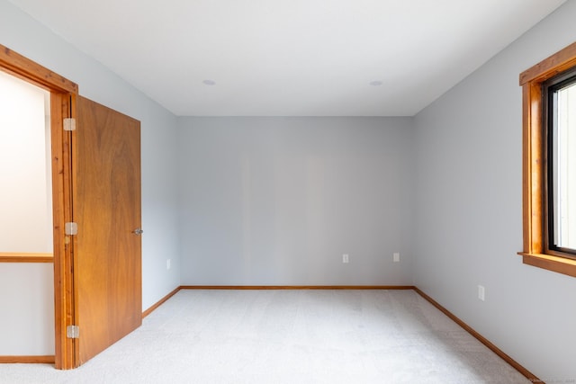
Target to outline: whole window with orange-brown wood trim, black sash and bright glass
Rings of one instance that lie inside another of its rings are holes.
[[[576,43],[527,69],[524,263],[576,277]]]

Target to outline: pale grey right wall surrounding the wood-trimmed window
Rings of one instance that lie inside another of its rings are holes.
[[[574,20],[571,0],[415,117],[415,283],[546,382],[576,379],[576,279],[517,255],[518,75],[576,40]]]

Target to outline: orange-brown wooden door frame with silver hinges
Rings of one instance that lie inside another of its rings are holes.
[[[76,343],[67,338],[67,326],[74,325],[75,287],[73,284],[72,241],[65,225],[72,221],[71,132],[63,129],[65,118],[72,117],[78,85],[46,67],[0,44],[0,69],[50,93],[50,135],[52,158],[52,214],[54,233],[54,316],[55,366],[59,370],[76,368]]]

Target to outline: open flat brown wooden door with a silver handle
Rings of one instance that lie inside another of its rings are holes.
[[[80,96],[72,210],[78,366],[142,322],[139,121]]]

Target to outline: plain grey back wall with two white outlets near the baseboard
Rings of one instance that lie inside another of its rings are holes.
[[[182,118],[182,283],[411,284],[411,122]]]

